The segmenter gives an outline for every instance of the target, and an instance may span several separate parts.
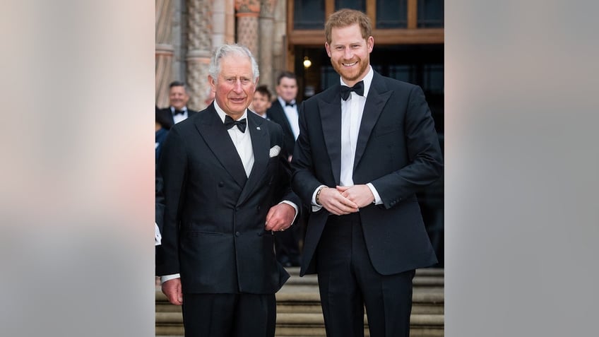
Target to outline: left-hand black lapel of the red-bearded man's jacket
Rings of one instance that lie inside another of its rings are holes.
[[[335,183],[339,184],[341,175],[341,97],[331,102],[319,101],[322,131],[328,158]]]

